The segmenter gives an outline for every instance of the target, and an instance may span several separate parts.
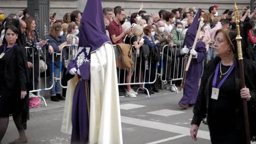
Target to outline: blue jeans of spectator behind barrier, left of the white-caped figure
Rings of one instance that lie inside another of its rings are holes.
[[[54,77],[60,77],[60,69],[54,68]],[[53,71],[50,70],[49,76],[49,87],[53,85]],[[54,80],[54,86],[51,88],[51,96],[56,96],[56,94],[61,94],[61,85],[59,80]]]

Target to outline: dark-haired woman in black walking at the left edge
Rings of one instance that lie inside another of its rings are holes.
[[[12,115],[20,137],[15,143],[27,142],[21,123],[21,100],[27,95],[27,63],[25,49],[18,43],[18,28],[7,26],[0,46],[0,142]]]

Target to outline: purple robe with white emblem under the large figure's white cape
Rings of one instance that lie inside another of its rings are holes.
[[[74,61],[71,61],[68,65],[67,71],[72,68],[79,69],[79,82],[75,87],[72,105],[72,135],[71,143],[88,143],[89,140],[89,110],[90,105],[90,61],[86,61],[88,54],[86,49],[82,49],[78,53]],[[83,61],[84,60],[84,61]],[[81,63],[83,62],[83,63]],[[67,72],[68,80],[72,76]]]

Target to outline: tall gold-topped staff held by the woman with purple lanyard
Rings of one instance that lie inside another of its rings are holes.
[[[241,89],[245,88],[245,74],[243,73],[243,55],[242,55],[242,45],[241,40],[242,37],[240,36],[240,26],[239,26],[239,16],[238,16],[238,8],[236,5],[235,0],[235,22],[236,22],[236,42],[237,42],[237,52],[238,52],[238,66],[240,71],[240,77],[241,77]],[[247,100],[243,99],[243,113],[245,116],[245,129],[246,129],[246,140],[247,144],[251,143],[250,138],[250,130],[249,130],[249,118],[248,118],[248,110],[247,110]]]

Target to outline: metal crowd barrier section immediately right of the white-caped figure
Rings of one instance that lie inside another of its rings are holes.
[[[114,51],[115,51],[115,58],[116,59],[118,58],[119,61],[121,61],[121,55],[120,55],[117,45],[113,45],[113,47],[114,47]],[[142,51],[140,50],[139,54],[137,54],[134,46],[132,46],[132,50],[134,52],[132,54],[133,55],[132,59],[133,59],[133,62],[135,63],[135,67],[132,69],[121,69],[120,66],[117,67],[118,85],[119,86],[139,85],[136,92],[138,92],[139,89],[142,89],[144,91],[147,91],[147,95],[148,95],[148,97],[150,97],[149,91],[145,87],[145,85],[150,85],[150,84],[155,83],[156,78],[158,76],[159,63],[152,62],[151,55],[148,56],[148,59],[149,59],[148,61],[143,61],[144,58],[142,58]],[[137,57],[137,55],[139,55],[139,57]],[[152,70],[155,70],[155,73],[152,73]],[[126,76],[131,75],[131,74],[132,74],[132,77],[131,77],[131,79],[129,79],[129,81],[131,81],[131,82],[126,82]],[[154,76],[155,79],[150,81],[150,78],[152,76]],[[148,79],[148,80],[146,80],[146,79]]]

